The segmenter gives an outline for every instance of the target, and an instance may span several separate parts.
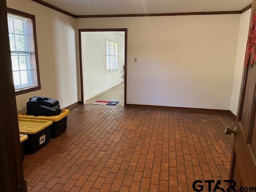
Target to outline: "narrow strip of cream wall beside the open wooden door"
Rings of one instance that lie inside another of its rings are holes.
[[[250,14],[251,14],[251,9],[242,13],[241,19],[240,19],[240,29],[239,29],[238,46],[237,46],[237,53],[236,53],[236,65],[235,65],[232,96],[231,96],[231,103],[230,103],[230,110],[235,115],[237,114],[240,87],[242,82],[242,72],[244,69],[244,57],[246,52],[246,44],[247,44],[248,31],[249,31],[249,25],[250,25]]]

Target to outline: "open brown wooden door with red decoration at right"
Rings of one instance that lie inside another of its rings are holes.
[[[240,101],[236,119],[236,135],[230,166],[230,179],[236,181],[237,191],[250,191],[256,187],[256,0],[252,13],[245,67],[240,90]],[[254,58],[255,56],[255,58]],[[255,61],[254,61],[255,60]],[[247,61],[247,62],[246,62]],[[240,189],[240,187],[243,187]],[[256,188],[252,191],[256,191]]]

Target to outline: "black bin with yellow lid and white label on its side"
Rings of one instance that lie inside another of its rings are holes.
[[[20,133],[28,135],[25,153],[35,153],[49,143],[52,121],[18,118],[18,123]]]

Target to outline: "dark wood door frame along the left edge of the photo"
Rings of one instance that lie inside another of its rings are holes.
[[[6,15],[6,0],[2,0],[0,1],[0,89],[2,91],[0,102],[0,186],[1,191],[26,192]]]

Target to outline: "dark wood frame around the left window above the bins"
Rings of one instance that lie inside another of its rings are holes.
[[[6,8],[6,10],[10,14],[30,18],[30,19],[32,19],[32,23],[33,23],[34,47],[35,47],[35,56],[36,56],[36,74],[37,74],[38,86],[33,87],[33,88],[29,88],[29,89],[16,91],[15,94],[20,95],[20,94],[40,90],[41,89],[41,82],[40,82],[40,70],[39,70],[38,48],[37,48],[37,38],[36,38],[36,16],[34,16],[32,14],[22,12],[22,11],[19,11],[19,10],[15,10],[15,9],[12,9],[12,8]]]

